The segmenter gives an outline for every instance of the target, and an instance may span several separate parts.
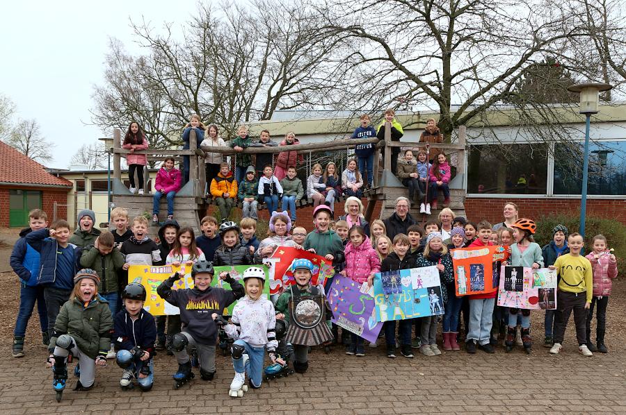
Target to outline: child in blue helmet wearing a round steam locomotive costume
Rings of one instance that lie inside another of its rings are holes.
[[[323,287],[311,285],[313,264],[310,260],[295,260],[291,270],[296,283],[278,297],[276,319],[289,321],[285,339],[294,346],[294,370],[305,373],[309,367],[309,346],[332,340],[330,307]]]

